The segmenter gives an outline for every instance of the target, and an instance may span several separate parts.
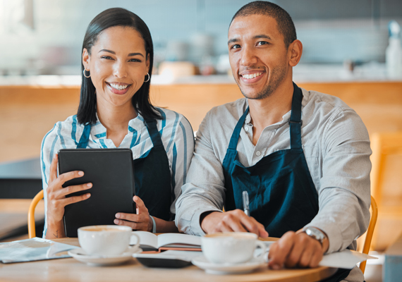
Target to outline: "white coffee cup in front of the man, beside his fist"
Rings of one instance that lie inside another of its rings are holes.
[[[259,246],[262,252],[256,258],[263,259],[266,247],[257,239],[256,234],[245,232],[205,235],[201,238],[202,254],[215,264],[241,264],[252,259],[255,247]]]

